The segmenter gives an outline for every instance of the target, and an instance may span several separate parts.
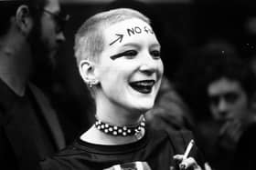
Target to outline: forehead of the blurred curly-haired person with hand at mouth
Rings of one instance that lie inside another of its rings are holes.
[[[208,86],[209,95],[225,94],[228,92],[241,92],[240,83],[228,78],[221,78]]]

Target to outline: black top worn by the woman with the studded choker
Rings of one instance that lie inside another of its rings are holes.
[[[169,170],[170,166],[176,167],[173,155],[184,153],[190,137],[187,132],[169,135],[147,129],[141,140],[127,145],[93,145],[78,138],[73,145],[48,158],[41,166],[44,170],[102,170],[113,165],[144,162],[153,170]],[[198,160],[197,147],[193,148],[191,155]]]

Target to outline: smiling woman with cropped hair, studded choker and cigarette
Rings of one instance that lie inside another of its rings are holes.
[[[149,19],[133,9],[104,11],[80,26],[75,55],[96,122],[42,169],[202,169],[196,145],[183,155],[190,133],[145,125],[164,72],[160,48]]]

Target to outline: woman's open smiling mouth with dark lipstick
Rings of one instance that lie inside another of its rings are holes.
[[[155,80],[136,81],[129,85],[139,93],[150,94],[152,92],[152,87],[155,85]]]

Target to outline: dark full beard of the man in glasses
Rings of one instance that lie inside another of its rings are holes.
[[[28,35],[33,63],[31,81],[37,86],[48,88],[53,81],[56,62],[54,57],[50,56],[48,46],[43,42],[41,33],[40,22],[36,22],[31,33]]]

